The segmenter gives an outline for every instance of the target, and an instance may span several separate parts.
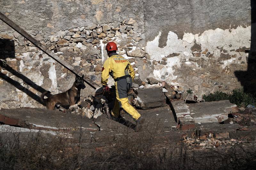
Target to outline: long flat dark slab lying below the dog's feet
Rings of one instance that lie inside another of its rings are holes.
[[[1,109],[0,122],[37,130],[66,131],[79,130],[80,127],[89,131],[99,130],[88,118],[39,108]]]

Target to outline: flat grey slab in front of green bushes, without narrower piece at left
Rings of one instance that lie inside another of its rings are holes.
[[[236,104],[229,100],[187,104],[195,123],[222,122],[234,111]]]

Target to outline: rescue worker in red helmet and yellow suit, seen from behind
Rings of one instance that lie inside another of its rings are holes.
[[[114,120],[119,120],[120,107],[124,109],[126,113],[132,116],[136,121],[135,131],[141,129],[141,125],[144,123],[144,118],[141,117],[140,113],[134,109],[128,103],[128,91],[132,87],[132,81],[134,80],[135,74],[130,62],[122,56],[119,56],[117,51],[117,45],[114,42],[109,42],[106,45],[106,50],[108,53],[108,59],[105,61],[102,73],[101,73],[101,84],[103,89],[109,90],[108,87],[108,77],[109,75],[115,80],[116,87],[116,100],[114,108],[111,111],[112,118]]]

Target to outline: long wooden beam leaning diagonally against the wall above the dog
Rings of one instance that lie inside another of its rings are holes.
[[[73,66],[70,66],[66,61],[63,61],[59,58],[55,53],[53,53],[51,50],[47,49],[43,44],[41,44],[39,41],[37,41],[34,37],[29,35],[25,30],[20,28],[17,24],[15,24],[11,19],[8,19],[3,13],[0,12],[0,19],[3,20],[7,25],[12,27],[15,31],[17,31],[20,35],[24,36],[28,39],[31,43],[33,43],[37,48],[42,50],[45,54],[53,58],[55,61],[60,63],[62,66],[66,67],[69,71],[72,73],[78,75],[80,78],[83,76],[81,73],[79,73]],[[84,76],[84,81],[89,84],[93,89],[96,89],[100,87],[98,84],[93,82],[90,78]]]

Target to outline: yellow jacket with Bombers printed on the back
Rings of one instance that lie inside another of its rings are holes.
[[[132,65],[124,57],[115,54],[109,57],[103,65],[101,73],[101,84],[103,86],[107,85],[109,75],[111,75],[113,79],[124,76],[124,69],[127,66],[127,64],[129,64],[128,70],[133,81],[135,74]]]

